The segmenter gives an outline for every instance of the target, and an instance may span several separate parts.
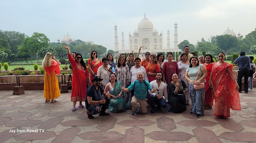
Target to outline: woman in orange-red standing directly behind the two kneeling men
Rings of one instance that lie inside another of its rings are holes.
[[[146,66],[147,76],[148,76],[148,82],[156,80],[156,73],[160,72],[160,67],[157,64],[157,56],[155,54],[152,54],[150,56],[150,63]]]

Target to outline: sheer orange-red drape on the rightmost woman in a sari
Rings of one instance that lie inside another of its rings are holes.
[[[215,63],[216,64],[216,63]],[[221,79],[224,75],[228,78],[229,83],[229,89],[228,89],[228,96],[230,97],[230,108],[233,110],[241,110],[241,104],[240,104],[240,98],[239,93],[236,90],[236,83],[231,79],[230,75],[226,72],[227,68],[230,66],[231,72],[234,75],[232,69],[233,65],[229,64],[227,62],[215,67],[213,65],[212,68],[212,82],[213,82],[213,90],[215,93],[218,93],[218,86],[222,86],[221,84],[227,84],[227,83],[221,83]]]

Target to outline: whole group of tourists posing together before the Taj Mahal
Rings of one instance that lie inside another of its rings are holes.
[[[211,55],[199,56],[198,59],[185,46],[177,62],[173,60],[172,52],[167,53],[167,60],[164,60],[162,53],[155,55],[145,52],[145,59],[141,61],[138,56],[143,46],[140,46],[137,57],[132,51],[128,58],[121,54],[115,63],[111,53],[100,60],[93,50],[87,69],[80,53],[71,55],[69,47],[64,48],[67,49],[73,70],[72,111],[76,111],[77,101],[80,108],[84,107],[82,101],[85,101],[89,119],[96,114],[110,115],[105,112],[106,109],[110,112],[132,109],[131,115],[136,115],[138,102],[143,114],[147,112],[147,105],[151,107],[151,113],[155,112],[155,108],[180,113],[186,110],[186,105],[192,104],[190,113],[202,117],[204,109],[213,106],[214,99],[216,118],[230,117],[230,108],[241,110],[239,85],[233,74],[233,66],[224,62],[225,54],[222,52],[218,53],[219,61],[213,62]],[[52,61],[55,63],[54,59]],[[46,90],[45,97],[52,94]],[[57,96],[46,100],[54,101]]]

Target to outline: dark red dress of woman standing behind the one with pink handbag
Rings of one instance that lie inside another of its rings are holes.
[[[206,82],[205,82],[205,97],[204,97],[204,107],[212,107],[213,106],[213,98],[212,98],[212,90],[209,87],[209,80],[210,80],[210,76],[212,73],[212,66],[213,63],[211,64],[206,64],[204,63],[206,69],[207,69],[207,77],[205,78]]]

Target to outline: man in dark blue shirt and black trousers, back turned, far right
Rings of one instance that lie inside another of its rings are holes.
[[[248,93],[248,78],[250,74],[250,58],[249,56],[245,56],[245,52],[240,53],[240,57],[238,57],[234,64],[238,63],[238,76],[237,76],[237,84],[239,85],[238,92],[242,92],[242,78],[244,76],[244,92]]]

